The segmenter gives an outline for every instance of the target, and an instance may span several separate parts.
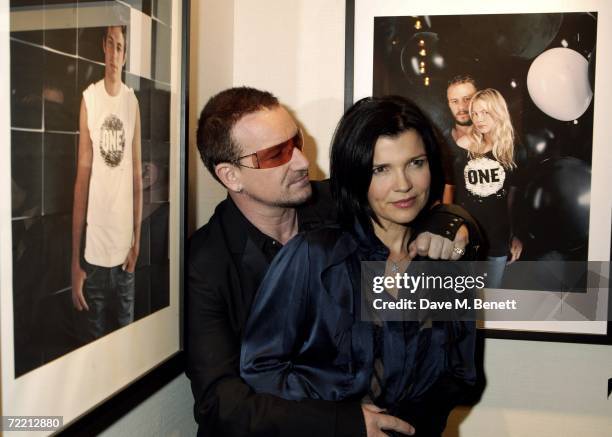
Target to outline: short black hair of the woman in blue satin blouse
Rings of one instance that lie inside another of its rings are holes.
[[[332,140],[331,191],[342,226],[351,228],[357,219],[365,229],[372,229],[371,219],[377,218],[368,202],[368,189],[374,146],[381,136],[397,137],[410,129],[423,139],[431,173],[429,199],[423,211],[440,200],[444,188],[440,143],[429,118],[404,97],[366,97],[342,116]]]

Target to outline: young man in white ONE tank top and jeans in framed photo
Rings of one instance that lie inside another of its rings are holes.
[[[72,303],[85,342],[134,320],[142,222],[140,110],[122,81],[125,26],[102,40],[104,78],[83,91],[72,220]]]

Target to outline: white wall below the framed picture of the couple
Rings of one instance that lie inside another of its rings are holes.
[[[612,347],[489,339],[485,369],[482,401],[455,411],[445,437],[612,434]]]

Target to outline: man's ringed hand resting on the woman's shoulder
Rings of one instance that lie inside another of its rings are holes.
[[[450,259],[456,261],[465,253],[470,241],[467,226],[461,225],[454,240],[441,235],[423,232],[408,246],[410,259],[415,256],[425,256],[431,259]]]

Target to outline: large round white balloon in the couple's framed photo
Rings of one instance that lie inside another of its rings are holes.
[[[589,63],[572,49],[546,50],[529,67],[527,89],[533,103],[545,114],[561,121],[575,120],[593,99]]]

